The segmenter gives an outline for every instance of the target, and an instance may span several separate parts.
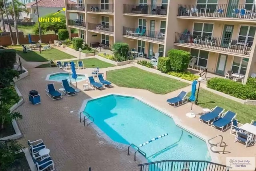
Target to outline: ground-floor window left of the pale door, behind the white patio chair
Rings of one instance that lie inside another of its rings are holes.
[[[207,66],[207,61],[208,61],[208,51],[200,51],[198,49],[191,49],[190,50],[191,57],[196,58],[196,65],[206,67]]]

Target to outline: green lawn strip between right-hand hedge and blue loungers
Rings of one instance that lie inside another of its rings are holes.
[[[190,93],[188,94],[190,96]],[[243,124],[246,122],[251,122],[251,120],[256,119],[256,106],[246,105],[224,98],[223,96],[217,95],[210,91],[200,89],[198,95],[198,105],[203,108],[214,108],[215,106],[220,106],[225,109],[225,111],[230,110],[237,113],[237,119]]]

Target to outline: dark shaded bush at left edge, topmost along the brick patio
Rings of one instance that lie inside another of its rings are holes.
[[[13,69],[16,61],[16,51],[14,49],[0,50],[0,68]]]

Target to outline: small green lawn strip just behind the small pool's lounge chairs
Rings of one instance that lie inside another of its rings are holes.
[[[74,63],[77,64],[77,61],[79,60],[75,60]],[[111,63],[106,63],[104,61],[101,61],[97,58],[88,58],[88,59],[81,59],[81,61],[83,61],[84,63],[84,67],[86,68],[108,68],[108,67],[114,67],[115,65],[111,64]],[[69,61],[71,62],[71,61]]]

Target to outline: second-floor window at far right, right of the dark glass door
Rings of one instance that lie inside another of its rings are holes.
[[[239,35],[238,35],[238,41],[246,42],[246,44],[248,43],[248,45],[252,45],[252,42],[254,40],[255,31],[256,31],[256,27],[241,26]]]

